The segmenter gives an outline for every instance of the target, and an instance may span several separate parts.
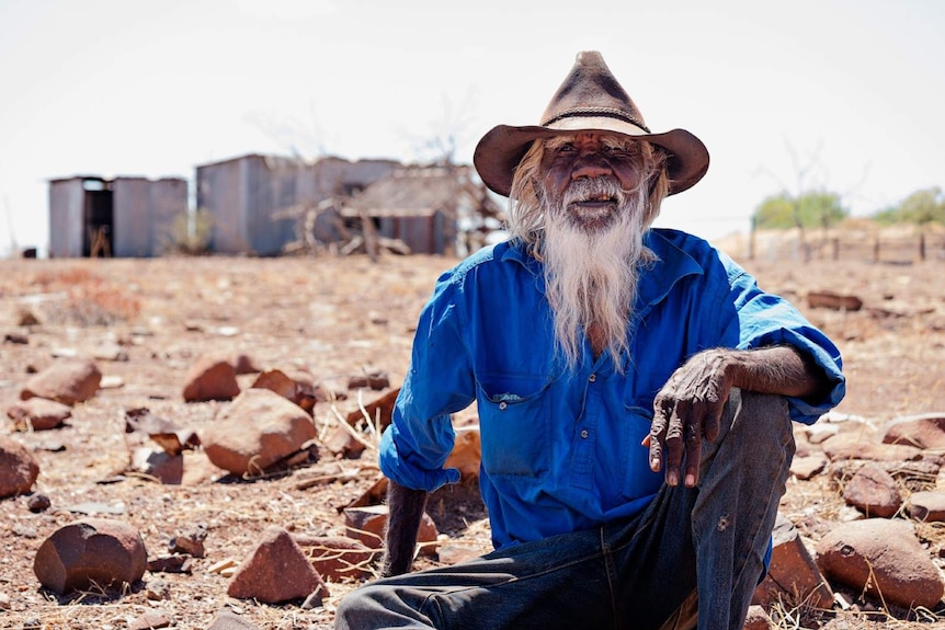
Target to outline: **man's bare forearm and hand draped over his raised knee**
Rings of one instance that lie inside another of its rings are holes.
[[[685,479],[699,479],[703,438],[719,434],[719,422],[731,388],[779,396],[818,397],[831,382],[813,360],[792,346],[737,351],[713,348],[693,355],[653,401],[653,423],[644,446],[650,448],[650,469],[665,466],[667,483],[679,485],[685,455]]]

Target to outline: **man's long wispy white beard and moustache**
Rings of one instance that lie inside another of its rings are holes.
[[[569,210],[574,201],[602,190],[616,199],[616,209]],[[615,182],[604,181],[574,184],[559,199],[544,198],[542,254],[559,350],[573,368],[581,340],[594,324],[601,352],[620,369],[620,355],[629,350],[638,263],[649,260],[642,244],[649,227],[647,197],[639,190],[628,196]]]

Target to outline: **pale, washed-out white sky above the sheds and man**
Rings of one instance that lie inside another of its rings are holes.
[[[784,188],[854,215],[945,187],[941,0],[0,0],[0,253],[48,244],[47,181],[194,177],[244,153],[469,163],[601,50],[711,165],[659,225],[745,231]],[[799,177],[799,173],[804,176]]]

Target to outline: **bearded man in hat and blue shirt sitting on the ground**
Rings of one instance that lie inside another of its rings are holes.
[[[741,628],[794,455],[844,393],[840,354],[693,236],[650,224],[698,182],[692,134],[652,134],[597,53],[538,126],[476,149],[511,239],[424,308],[380,467],[386,576],[338,628]],[[496,551],[413,574],[449,414],[478,404]]]

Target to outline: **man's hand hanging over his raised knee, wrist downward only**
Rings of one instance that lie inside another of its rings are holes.
[[[727,351],[699,353],[676,369],[653,401],[653,423],[644,440],[650,469],[663,465],[667,483],[679,485],[685,454],[685,485],[698,482],[702,440],[718,437],[719,421],[732,388]]]

